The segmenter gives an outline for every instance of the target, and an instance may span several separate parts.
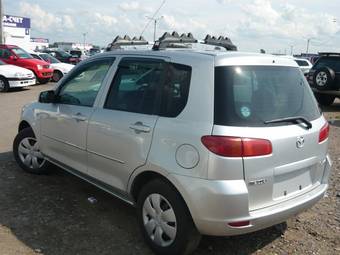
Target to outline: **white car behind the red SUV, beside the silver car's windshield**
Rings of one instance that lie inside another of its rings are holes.
[[[64,75],[70,72],[71,69],[74,67],[74,65],[60,62],[58,59],[56,59],[55,57],[48,53],[30,52],[30,54],[32,57],[36,59],[44,60],[50,63],[51,68],[54,69],[52,76],[52,81],[54,82],[58,82]]]

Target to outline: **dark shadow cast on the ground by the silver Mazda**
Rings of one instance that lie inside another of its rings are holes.
[[[27,174],[11,152],[0,153],[0,187],[0,225],[33,250],[152,254],[133,207],[58,167],[47,175]],[[194,254],[250,254],[280,238],[286,228],[280,224],[242,236],[203,237]]]

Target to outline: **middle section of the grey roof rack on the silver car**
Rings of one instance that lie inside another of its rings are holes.
[[[153,50],[160,50],[166,48],[188,48],[189,44],[197,43],[197,39],[194,38],[192,33],[182,34],[179,36],[177,32],[172,34],[165,32],[153,45]]]

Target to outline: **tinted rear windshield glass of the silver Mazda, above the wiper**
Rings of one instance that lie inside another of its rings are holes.
[[[216,125],[271,126],[265,121],[320,116],[311,89],[299,68],[240,66],[215,68]]]

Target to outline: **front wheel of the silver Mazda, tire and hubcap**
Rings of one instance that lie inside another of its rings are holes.
[[[48,172],[50,163],[41,154],[32,128],[25,128],[17,134],[13,142],[13,154],[24,171],[33,174]]]

